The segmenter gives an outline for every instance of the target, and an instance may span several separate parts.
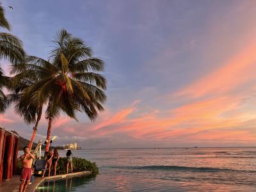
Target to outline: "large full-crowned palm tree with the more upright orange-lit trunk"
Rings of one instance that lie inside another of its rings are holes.
[[[54,49],[49,60],[29,56],[26,64],[17,68],[20,74],[33,71],[38,81],[24,89],[24,100],[33,106],[46,105],[48,120],[47,145],[51,140],[52,121],[66,113],[76,118],[76,112],[86,113],[95,120],[106,100],[106,79],[99,74],[104,63],[92,57],[92,50],[80,38],[72,37],[65,29],[57,33],[53,40]]]

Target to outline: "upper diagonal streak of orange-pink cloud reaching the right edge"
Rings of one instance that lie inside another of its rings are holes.
[[[255,80],[255,50],[256,43],[250,42],[243,51],[223,63],[223,67],[183,88],[175,96],[202,97],[207,94],[227,93],[243,83]]]

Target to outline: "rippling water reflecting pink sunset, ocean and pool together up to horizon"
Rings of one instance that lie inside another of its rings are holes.
[[[37,191],[256,191],[256,148],[75,150],[73,156],[97,163],[99,175],[45,182]]]

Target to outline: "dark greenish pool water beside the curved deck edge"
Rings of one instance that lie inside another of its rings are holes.
[[[47,180],[41,184],[36,192],[83,191],[86,184],[95,179],[95,176],[69,177],[67,179]]]

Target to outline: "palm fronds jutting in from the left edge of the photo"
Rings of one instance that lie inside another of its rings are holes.
[[[0,27],[10,31],[10,24],[5,18],[3,6],[0,3]],[[22,48],[22,42],[10,33],[0,33],[0,60],[8,60],[14,65],[20,63],[24,58],[24,50]],[[4,76],[3,69],[0,67],[0,113],[3,113],[6,109],[6,96],[3,93],[2,88],[8,87],[10,84],[10,78]]]

